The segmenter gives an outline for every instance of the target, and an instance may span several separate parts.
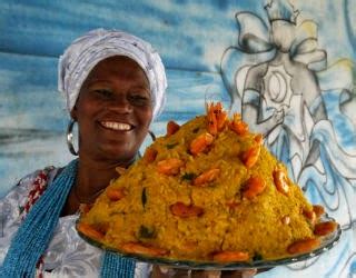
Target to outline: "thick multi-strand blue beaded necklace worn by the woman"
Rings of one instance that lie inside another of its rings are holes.
[[[31,207],[11,241],[0,268],[0,277],[34,277],[36,265],[51,240],[60,212],[75,183],[77,169],[78,160],[75,159]],[[134,274],[135,260],[105,252],[100,277],[134,277]]]

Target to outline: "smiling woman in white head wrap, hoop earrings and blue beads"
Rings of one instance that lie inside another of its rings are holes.
[[[93,30],[66,50],[59,60],[59,90],[78,122],[79,158],[63,169],[29,175],[1,200],[7,215],[1,277],[147,276],[148,265],[86,244],[75,224],[80,205],[92,203],[119,177],[116,169],[135,161],[162,109],[166,87],[158,53],[128,33]],[[70,150],[75,152],[71,145]]]

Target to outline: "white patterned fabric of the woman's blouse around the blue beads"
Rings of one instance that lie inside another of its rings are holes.
[[[56,173],[57,169],[50,172],[49,182],[52,181]],[[38,172],[33,172],[23,178],[17,187],[0,200],[0,266],[12,237],[21,225],[20,207],[26,203],[37,175]],[[44,252],[44,278],[99,277],[103,252],[78,236],[75,228],[77,219],[78,215],[59,218],[53,237]],[[135,278],[149,277],[150,270],[150,265],[137,262]]]

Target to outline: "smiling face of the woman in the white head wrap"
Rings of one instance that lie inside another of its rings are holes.
[[[128,165],[152,119],[148,79],[130,58],[100,61],[83,82],[71,112],[79,125],[79,156]]]

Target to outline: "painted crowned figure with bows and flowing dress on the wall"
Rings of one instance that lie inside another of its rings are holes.
[[[326,206],[355,240],[355,122],[345,110],[354,93],[354,62],[328,61],[327,48],[318,46],[318,23],[298,20],[300,11],[290,2],[273,0],[264,8],[267,22],[250,11],[235,17],[238,43],[225,51],[220,68],[233,106],[264,135],[309,199]]]

